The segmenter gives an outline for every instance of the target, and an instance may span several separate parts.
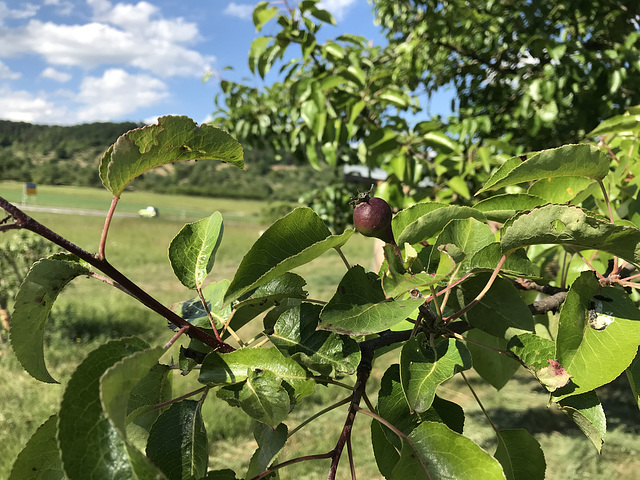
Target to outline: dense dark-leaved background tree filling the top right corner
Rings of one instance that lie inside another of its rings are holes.
[[[640,4],[620,0],[375,0],[398,67],[461,120],[529,149],[582,140],[640,103]]]

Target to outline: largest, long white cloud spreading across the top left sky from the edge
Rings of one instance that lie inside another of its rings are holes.
[[[0,56],[37,53],[52,65],[91,69],[120,64],[164,76],[199,77],[212,69],[215,57],[189,47],[200,38],[195,23],[164,19],[147,2],[88,3],[100,21],[65,25],[33,19],[23,27],[0,30]]]

